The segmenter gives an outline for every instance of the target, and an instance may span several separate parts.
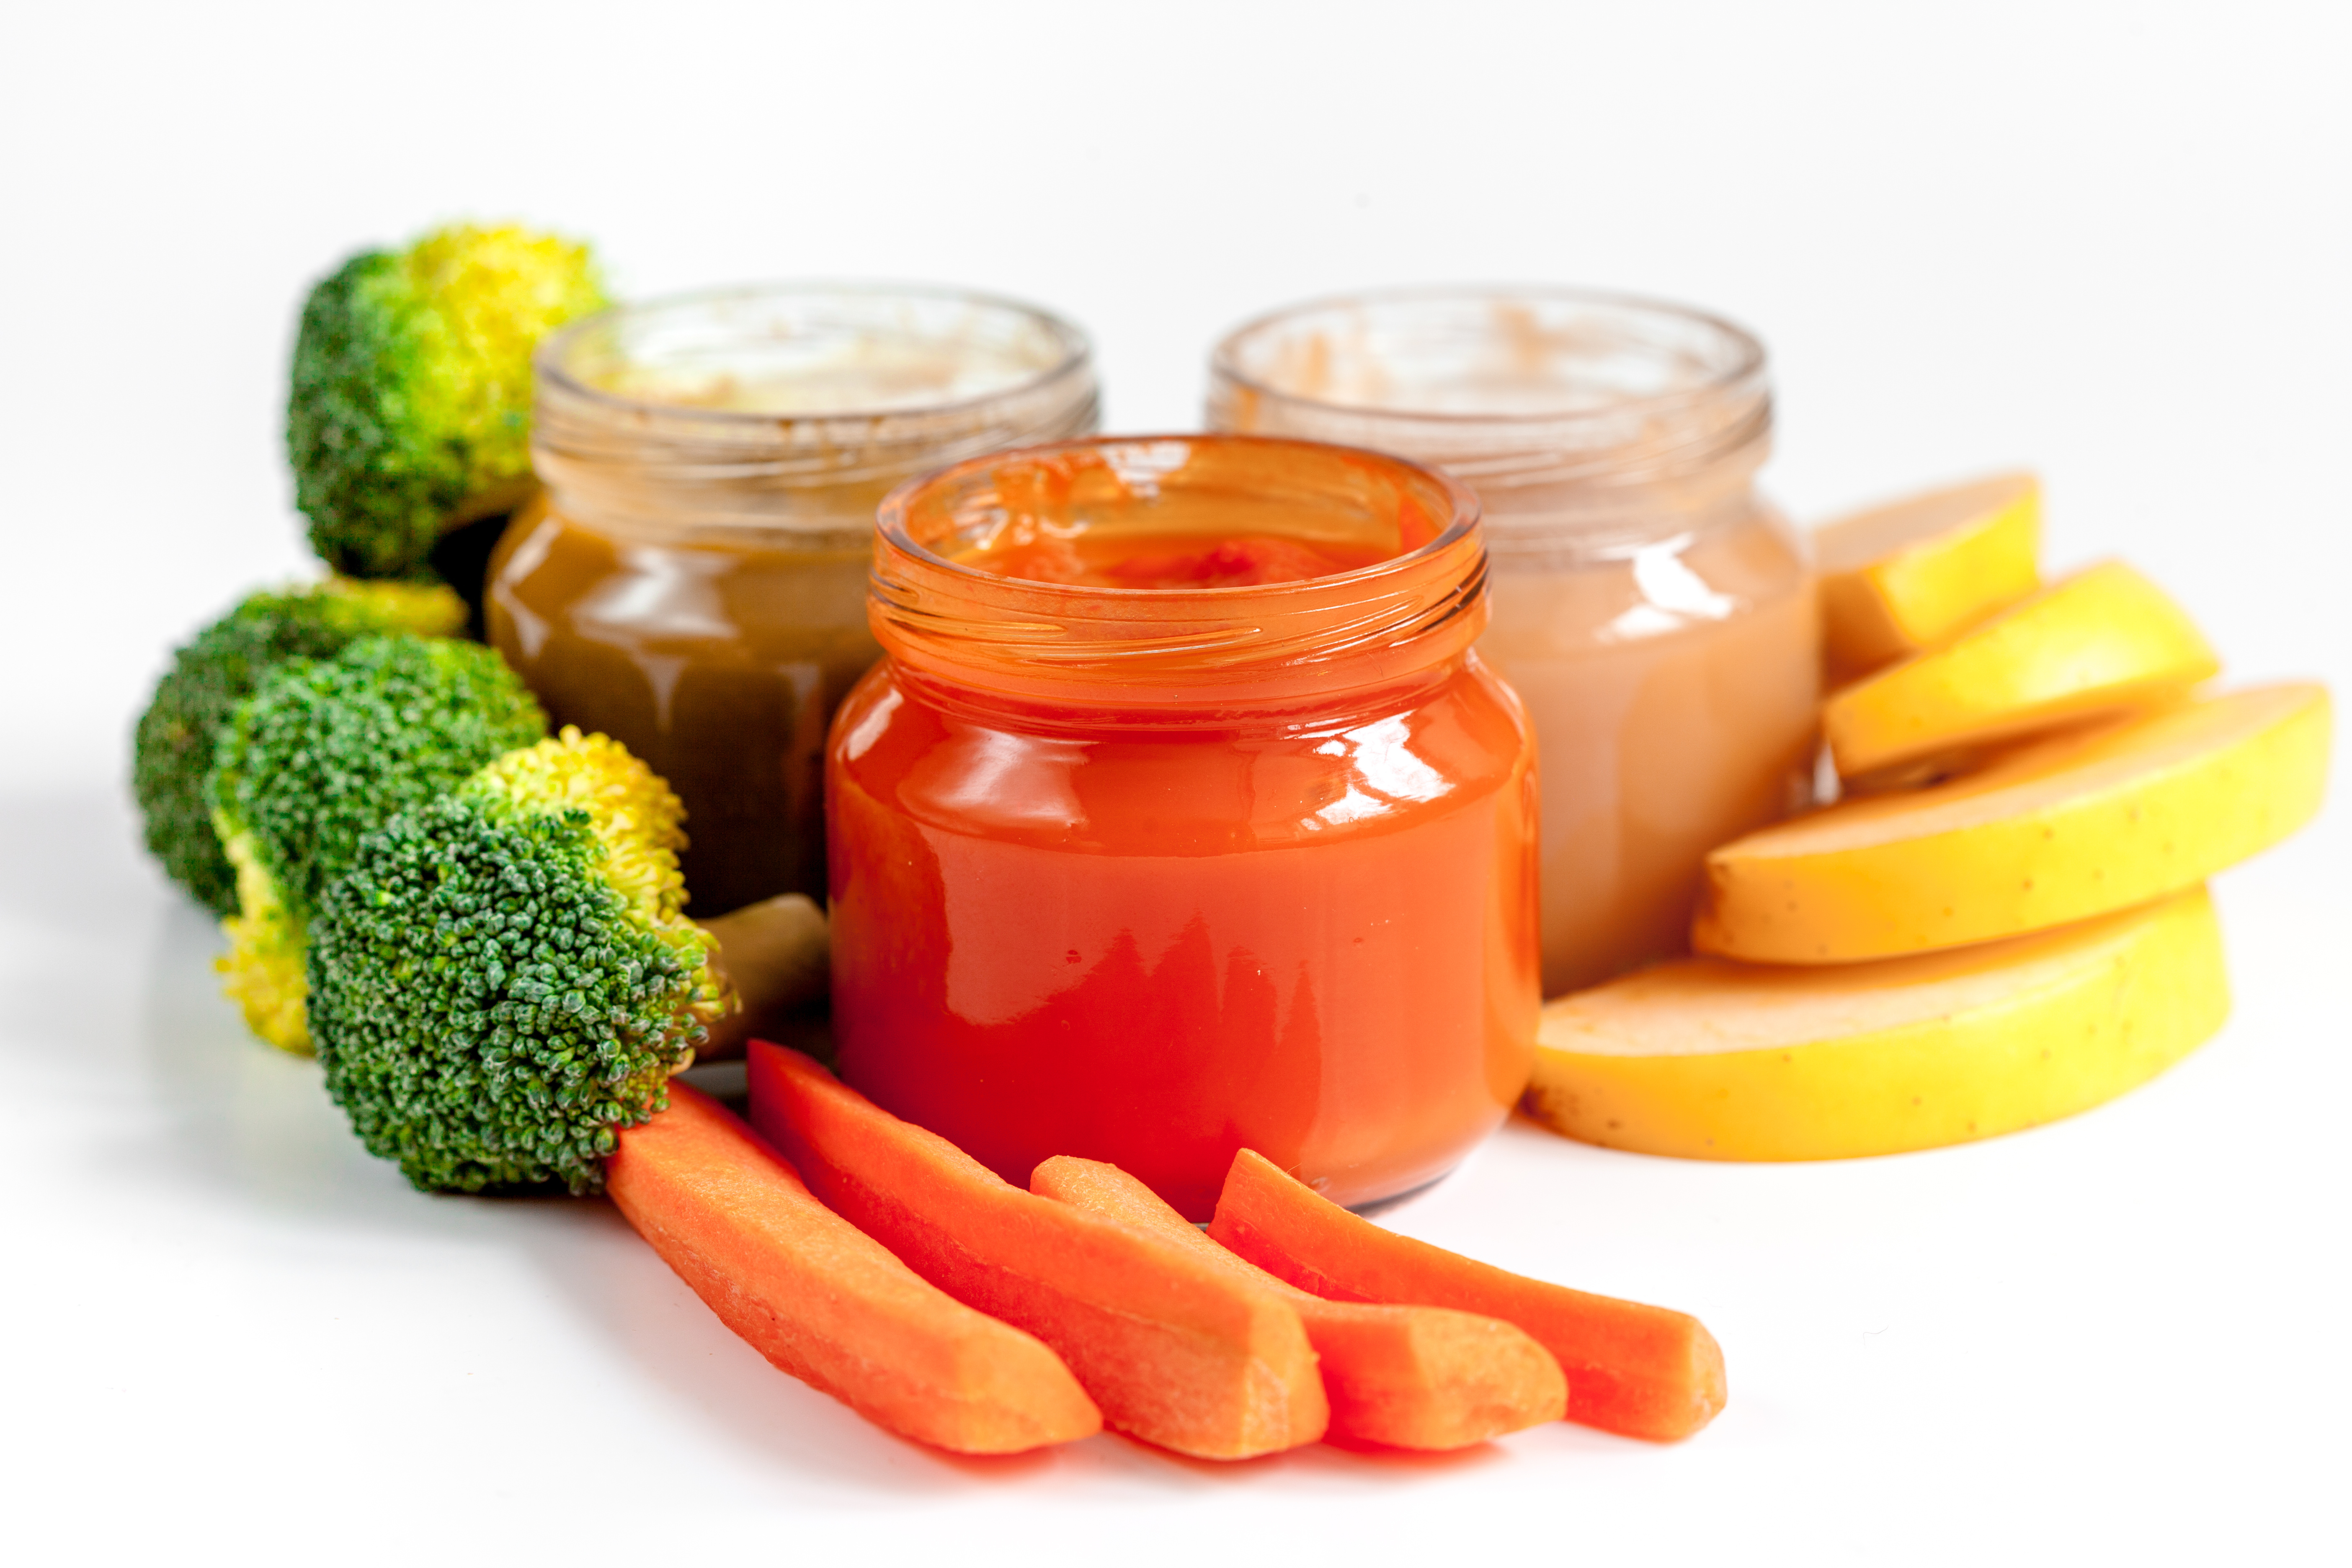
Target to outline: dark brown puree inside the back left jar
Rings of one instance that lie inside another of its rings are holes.
[[[823,898],[826,724],[882,654],[868,557],[628,541],[541,498],[492,559],[489,637],[548,717],[614,736],[687,802],[699,914]]]

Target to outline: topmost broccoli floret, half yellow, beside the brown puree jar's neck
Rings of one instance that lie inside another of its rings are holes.
[[[513,226],[362,252],[310,289],[287,451],[318,555],[412,576],[445,524],[513,505],[532,475],[532,350],[604,303],[586,244]]]

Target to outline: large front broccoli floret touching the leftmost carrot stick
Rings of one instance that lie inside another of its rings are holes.
[[[564,729],[360,842],[310,926],[327,1093],[428,1192],[604,1185],[731,1004],[682,914],[680,804]]]

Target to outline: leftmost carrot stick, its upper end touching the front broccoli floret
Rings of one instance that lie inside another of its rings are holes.
[[[604,1185],[720,1321],[880,1427],[1021,1453],[1103,1425],[1051,1349],[924,1284],[684,1084],[670,1084],[670,1110],[621,1133]]]

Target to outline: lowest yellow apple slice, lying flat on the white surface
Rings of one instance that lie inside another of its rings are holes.
[[[1682,959],[1545,1006],[1526,1112],[1684,1159],[1933,1150],[2112,1100],[2227,1011],[2204,889],[1879,964]]]

